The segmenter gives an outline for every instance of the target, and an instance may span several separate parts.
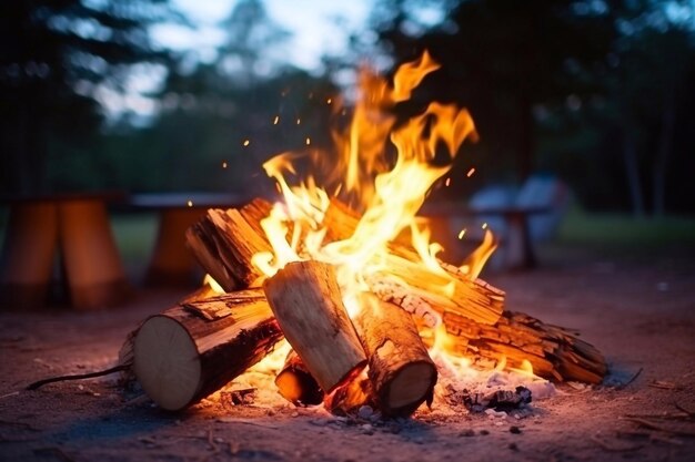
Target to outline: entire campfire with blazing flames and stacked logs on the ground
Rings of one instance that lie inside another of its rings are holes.
[[[210,278],[145,320],[121,352],[157,404],[194,404],[283,339],[278,391],[333,412],[370,405],[410,415],[432,403],[437,377],[480,370],[603,379],[606,365],[594,347],[505,310],[505,294],[479,278],[495,249],[490,230],[461,265],[437,258],[442,248],[417,213],[463,142],[477,136],[474,123],[465,109],[435,102],[402,123],[390,113],[437,68],[425,52],[392,83],[363,69],[333,152],[284,153],[264,164],[281,201],[210,209],[188,230]],[[343,110],[338,101],[334,107]],[[530,396],[516,389],[461,399],[484,407]]]

